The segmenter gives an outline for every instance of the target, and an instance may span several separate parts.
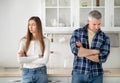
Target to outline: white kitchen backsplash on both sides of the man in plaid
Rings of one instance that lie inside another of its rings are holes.
[[[50,50],[53,52],[50,54],[47,64],[49,68],[68,68],[73,66],[74,55],[72,54],[70,49],[70,37],[71,35],[48,35],[48,38],[50,40],[52,38]],[[115,42],[119,43],[118,40],[119,38],[115,40]],[[106,63],[103,63],[104,68],[120,68],[120,47],[116,46],[118,45],[118,43],[115,44],[114,47],[111,47],[108,60],[106,61]]]

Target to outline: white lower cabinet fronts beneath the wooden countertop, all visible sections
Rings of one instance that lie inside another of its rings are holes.
[[[71,83],[71,77],[50,76],[48,83]],[[0,77],[0,83],[21,83],[21,77]],[[120,83],[120,77],[104,77],[103,83]]]

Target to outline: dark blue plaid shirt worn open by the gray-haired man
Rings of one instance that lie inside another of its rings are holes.
[[[106,61],[110,53],[110,39],[104,32],[98,30],[93,37],[91,48],[89,48],[87,27],[88,25],[76,29],[70,39],[71,50],[74,54],[73,71],[78,71],[85,75],[97,76],[103,74],[102,63]],[[80,41],[84,48],[99,50],[99,62],[93,62],[85,57],[78,57],[79,47],[76,46],[76,41]]]

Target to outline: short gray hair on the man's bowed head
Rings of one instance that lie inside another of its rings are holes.
[[[92,20],[92,19],[101,19],[102,18],[102,14],[98,11],[98,10],[92,10],[89,12],[88,14],[88,19]]]

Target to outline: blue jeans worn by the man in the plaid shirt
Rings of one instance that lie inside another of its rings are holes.
[[[72,83],[103,83],[103,74],[92,77],[90,75],[84,75],[77,71],[73,71]]]

